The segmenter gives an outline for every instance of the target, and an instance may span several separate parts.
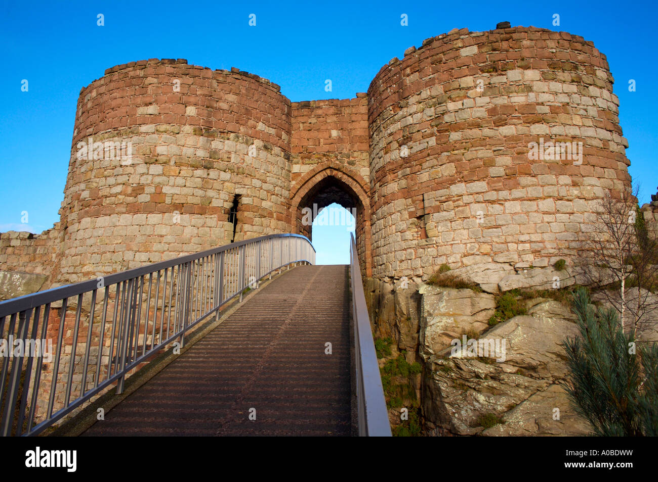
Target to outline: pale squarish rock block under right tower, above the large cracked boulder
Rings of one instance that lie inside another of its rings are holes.
[[[422,285],[420,311],[420,355],[428,359],[460,338],[464,332],[482,332],[495,311],[495,299],[488,293],[467,288],[456,290]]]

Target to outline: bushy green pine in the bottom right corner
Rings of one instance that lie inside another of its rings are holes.
[[[658,435],[658,347],[636,354],[617,310],[594,309],[586,288],[574,292],[580,336],[567,338],[569,376],[563,386],[570,405],[598,436]]]

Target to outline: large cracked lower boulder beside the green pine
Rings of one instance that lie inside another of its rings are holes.
[[[585,435],[559,385],[567,373],[561,347],[576,333],[574,316],[552,300],[530,300],[528,315],[497,324],[481,339],[504,340],[505,361],[432,356],[425,372],[423,410],[430,433],[458,435]],[[424,348],[422,348],[424,349]],[[553,409],[559,408],[559,420]],[[478,418],[503,424],[484,429]]]

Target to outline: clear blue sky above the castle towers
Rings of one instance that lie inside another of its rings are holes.
[[[99,13],[103,27],[96,25]],[[251,13],[255,27],[248,25]],[[409,26],[400,25],[403,13]],[[551,25],[555,13],[559,27]],[[657,14],[655,1],[2,1],[0,231],[41,232],[58,221],[78,94],[106,68],[186,58],[266,77],[293,101],[347,99],[426,37],[455,27],[490,30],[504,20],[582,35],[607,55],[630,172],[642,184],[640,202],[648,202],[658,186]],[[332,79],[332,92],[324,91],[325,79]],[[628,91],[628,79],[636,80],[636,92]]]

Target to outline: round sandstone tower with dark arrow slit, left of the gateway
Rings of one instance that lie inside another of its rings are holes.
[[[80,142],[132,142],[132,162]],[[185,60],[108,69],[82,89],[61,210],[62,282],[290,232],[290,102],[276,84]],[[89,157],[94,157],[89,159]]]

